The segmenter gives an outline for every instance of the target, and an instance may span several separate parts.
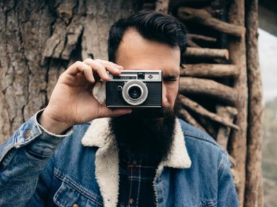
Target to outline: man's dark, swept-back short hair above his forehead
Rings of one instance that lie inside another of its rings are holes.
[[[116,50],[127,28],[135,28],[145,39],[179,47],[182,56],[187,46],[187,32],[183,23],[168,14],[152,10],[141,10],[132,16],[116,21],[109,30],[109,61],[116,61]]]

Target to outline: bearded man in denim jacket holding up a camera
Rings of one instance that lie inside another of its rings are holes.
[[[238,206],[227,153],[175,116],[184,26],[141,11],[111,26],[108,50],[64,71],[1,146],[1,206]],[[162,70],[162,107],[99,103],[96,83],[122,70]]]

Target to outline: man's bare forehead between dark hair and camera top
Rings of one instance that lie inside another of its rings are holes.
[[[135,29],[128,29],[118,46],[116,63],[127,70],[163,70],[176,74],[179,72],[180,50],[145,39]]]

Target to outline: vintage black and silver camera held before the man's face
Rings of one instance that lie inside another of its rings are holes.
[[[109,74],[106,82],[106,106],[109,108],[160,108],[161,70],[123,70]]]

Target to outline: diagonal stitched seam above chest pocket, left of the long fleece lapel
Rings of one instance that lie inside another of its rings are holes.
[[[74,190],[77,190],[78,193],[84,195],[84,197],[87,197],[88,199],[91,199],[91,201],[96,201],[97,204],[102,205],[102,202],[100,201],[100,199],[98,197],[96,197],[96,195],[92,195],[91,193],[89,193],[84,188],[81,188],[80,186],[75,184],[75,181],[73,181],[69,177],[66,177],[62,172],[60,172],[60,170],[58,170],[55,167],[54,167],[53,175],[55,177],[57,177],[57,179],[60,179],[61,181],[64,181],[66,184],[71,186],[71,188],[73,188]]]

